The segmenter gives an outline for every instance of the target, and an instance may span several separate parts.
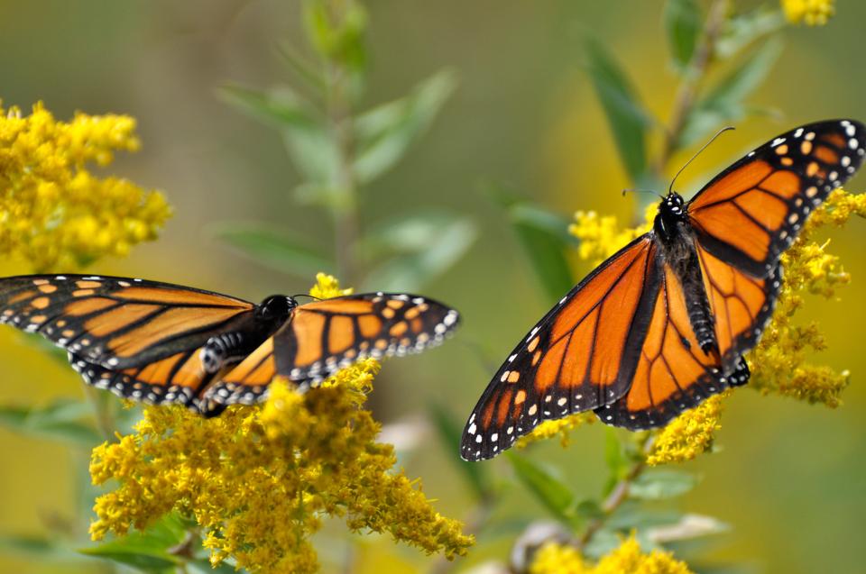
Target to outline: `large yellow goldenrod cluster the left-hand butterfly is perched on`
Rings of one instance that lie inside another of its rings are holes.
[[[343,293],[320,275],[318,296]],[[354,532],[391,533],[448,559],[474,539],[430,506],[417,480],[395,471],[390,444],[364,410],[379,370],[365,360],[300,394],[278,378],[263,407],[232,406],[204,419],[181,407],[145,407],[135,433],[93,451],[94,539],[141,530],[172,510],[195,519],[216,566],[229,557],[253,572],[312,572],[309,537],[325,516]]]

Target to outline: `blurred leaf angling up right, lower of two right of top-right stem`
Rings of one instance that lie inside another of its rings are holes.
[[[742,65],[733,68],[698,102],[686,119],[677,147],[693,145],[723,123],[742,119],[746,109],[744,100],[767,78],[781,51],[782,42],[776,38],[751,50]]]

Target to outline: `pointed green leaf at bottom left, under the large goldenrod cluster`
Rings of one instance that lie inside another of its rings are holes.
[[[177,515],[165,515],[143,533],[126,536],[78,551],[147,571],[161,571],[183,563],[170,550],[183,542],[185,524]]]

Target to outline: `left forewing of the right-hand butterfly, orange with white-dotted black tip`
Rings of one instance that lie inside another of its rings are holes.
[[[659,290],[656,250],[649,234],[632,241],[518,344],[469,416],[465,460],[491,458],[545,419],[604,405],[628,390]]]

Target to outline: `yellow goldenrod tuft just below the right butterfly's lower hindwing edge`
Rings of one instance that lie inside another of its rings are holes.
[[[722,418],[723,397],[730,392],[711,396],[657,431],[647,455],[647,464],[684,462],[709,451],[715,432],[722,428],[719,420]]]

